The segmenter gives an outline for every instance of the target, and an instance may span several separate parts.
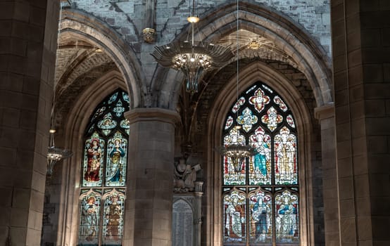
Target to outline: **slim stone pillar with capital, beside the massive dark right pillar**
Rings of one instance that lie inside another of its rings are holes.
[[[321,126],[322,187],[324,199],[325,243],[339,245],[339,202],[336,170],[334,106],[315,108]]]

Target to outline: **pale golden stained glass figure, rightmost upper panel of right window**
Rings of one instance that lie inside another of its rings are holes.
[[[275,136],[275,183],[296,184],[296,136],[283,127]]]

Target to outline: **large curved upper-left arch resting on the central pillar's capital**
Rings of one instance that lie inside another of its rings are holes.
[[[59,29],[59,39],[73,37],[105,51],[124,77],[130,108],[138,108],[144,103],[142,95],[146,94],[146,86],[142,82],[146,79],[141,64],[132,47],[115,30],[92,15],[70,8],[62,11]]]

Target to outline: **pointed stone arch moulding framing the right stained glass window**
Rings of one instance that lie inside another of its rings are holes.
[[[313,138],[313,125],[311,122],[310,112],[306,106],[305,101],[301,98],[301,94],[294,87],[289,79],[284,75],[272,69],[265,63],[251,63],[244,69],[239,71],[240,86],[239,94],[244,92],[253,83],[261,81],[268,84],[275,89],[277,93],[282,96],[284,101],[289,105],[291,111],[296,119],[296,127],[298,132],[298,155],[300,156],[299,163],[299,183],[300,183],[300,224],[301,224],[301,245],[314,245],[314,228],[313,228],[313,201],[310,187],[311,183],[311,156],[313,156],[313,150],[310,148],[310,143]],[[208,129],[207,129],[207,177],[206,183],[206,200],[209,206],[206,211],[207,221],[206,225],[206,237],[207,241],[211,242],[211,245],[222,245],[222,208],[221,208],[221,180],[222,174],[218,163],[220,163],[220,155],[214,151],[215,146],[222,145],[222,129],[225,120],[225,115],[234,101],[237,99],[237,80],[236,77],[232,77],[226,82],[224,88],[218,94],[217,98],[210,109],[210,115],[208,116]]]

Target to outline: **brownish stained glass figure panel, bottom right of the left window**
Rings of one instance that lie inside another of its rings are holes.
[[[102,245],[122,245],[123,212],[125,212],[125,195],[115,189],[105,195]]]

